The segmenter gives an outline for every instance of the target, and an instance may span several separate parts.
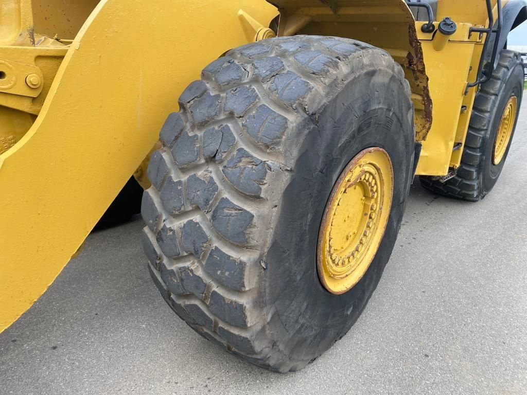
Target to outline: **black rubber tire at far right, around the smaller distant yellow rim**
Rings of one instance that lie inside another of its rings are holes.
[[[516,122],[518,122],[523,82],[521,55],[518,52],[503,50],[491,80],[483,84],[476,94],[457,174],[446,182],[434,180],[431,176],[420,176],[419,180],[425,189],[439,195],[471,202],[483,199],[492,190],[503,170],[516,129],[514,124],[513,135],[505,155],[499,164],[494,165],[492,153],[498,126],[511,95],[518,97],[516,113]]]

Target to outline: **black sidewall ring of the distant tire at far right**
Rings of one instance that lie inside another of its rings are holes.
[[[485,140],[485,154],[482,161],[483,171],[481,174],[482,177],[482,189],[483,189],[483,195],[489,193],[494,185],[497,182],[497,179],[499,178],[503,166],[505,164],[505,160],[507,159],[507,156],[509,155],[509,150],[511,148],[511,143],[514,137],[514,131],[516,130],[516,124],[518,123],[518,118],[520,114],[520,107],[522,102],[522,95],[523,95],[523,67],[518,64],[515,67],[512,68],[512,70],[508,73],[508,75],[505,78],[504,83],[500,86],[500,91],[497,97],[497,102],[495,108],[495,112],[492,115],[492,122],[490,124],[489,128],[489,135],[487,136],[487,139]],[[516,95],[518,97],[518,108],[516,108],[516,119],[514,123],[514,127],[512,130],[511,139],[509,140],[509,144],[507,146],[507,149],[505,151],[505,154],[503,155],[503,159],[501,162],[497,165],[495,165],[492,161],[492,154],[494,151],[494,143],[496,140],[496,134],[498,131],[498,127],[501,122],[501,118],[503,115],[503,112],[505,110],[505,106],[508,103],[509,99],[512,95]]]

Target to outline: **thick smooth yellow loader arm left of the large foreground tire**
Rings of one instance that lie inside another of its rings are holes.
[[[31,2],[0,1],[0,24],[17,6],[27,14]],[[96,5],[31,129],[0,155],[0,332],[79,249],[178,109],[183,88],[214,58],[252,41],[256,21],[268,26],[276,15],[263,0]],[[0,46],[0,59],[15,49]]]

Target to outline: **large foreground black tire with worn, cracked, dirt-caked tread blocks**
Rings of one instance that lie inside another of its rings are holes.
[[[267,369],[299,370],[340,339],[375,289],[411,183],[413,105],[383,50],[320,36],[230,51],[180,97],[142,203],[150,273],[198,333]],[[347,163],[380,146],[394,167],[386,233],[364,278],[333,295],[319,225]]]

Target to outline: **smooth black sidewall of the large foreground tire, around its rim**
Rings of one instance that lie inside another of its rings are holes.
[[[300,125],[308,132],[282,195],[263,282],[268,330],[291,359],[312,360],[349,330],[392,253],[411,183],[415,139],[413,107],[403,84],[393,68],[365,72],[329,98],[316,125]],[[389,131],[387,117],[393,122]],[[320,222],[341,171],[360,151],[375,146],[388,152],[394,170],[386,232],[363,279],[334,295],[317,273]]]

